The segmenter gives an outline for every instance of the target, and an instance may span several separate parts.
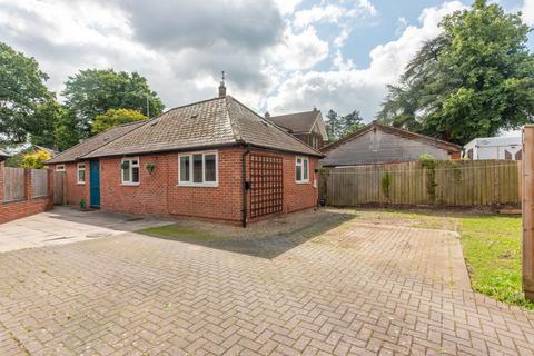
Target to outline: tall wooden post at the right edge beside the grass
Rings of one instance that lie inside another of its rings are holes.
[[[534,126],[523,128],[523,290],[534,300]]]

